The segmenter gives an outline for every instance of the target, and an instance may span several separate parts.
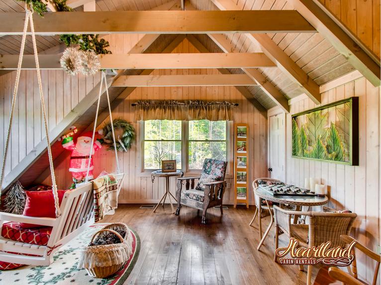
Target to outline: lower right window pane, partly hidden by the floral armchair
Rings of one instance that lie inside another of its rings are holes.
[[[226,161],[226,142],[189,142],[189,169],[201,169],[205,158]]]

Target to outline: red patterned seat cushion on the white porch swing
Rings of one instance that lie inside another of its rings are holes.
[[[22,228],[20,223],[8,222],[2,225],[1,236],[19,242],[47,245],[52,227]]]

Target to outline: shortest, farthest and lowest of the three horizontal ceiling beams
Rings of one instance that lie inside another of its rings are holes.
[[[124,75],[112,83],[114,87],[171,86],[249,86],[257,83],[246,74],[209,75]]]

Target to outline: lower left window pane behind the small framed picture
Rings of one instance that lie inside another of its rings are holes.
[[[144,142],[144,169],[161,169],[161,160],[176,160],[178,169],[181,169],[181,142]]]

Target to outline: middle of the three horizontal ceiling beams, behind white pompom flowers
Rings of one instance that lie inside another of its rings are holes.
[[[40,55],[41,69],[61,69],[61,55]],[[168,53],[99,55],[102,69],[183,69],[275,67],[264,53]],[[17,69],[17,55],[0,56],[0,69]],[[33,55],[24,55],[22,69],[35,69]]]

